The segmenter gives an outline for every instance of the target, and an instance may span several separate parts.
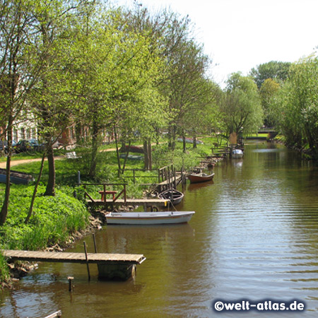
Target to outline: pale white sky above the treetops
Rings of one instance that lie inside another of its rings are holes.
[[[134,0],[114,0],[131,6]],[[211,57],[213,80],[247,75],[269,61],[298,61],[318,46],[318,0],[138,0],[152,12],[189,16],[196,40]]]

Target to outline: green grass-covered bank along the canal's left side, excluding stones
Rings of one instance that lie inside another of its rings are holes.
[[[211,147],[216,139],[206,137],[201,139],[203,145],[193,148],[192,144],[187,144],[187,151],[182,151],[182,143],[177,143],[175,151],[170,151],[167,143],[163,142],[153,146],[153,167],[163,167],[173,163],[177,170],[182,165],[187,167],[196,166],[201,157],[211,154]],[[111,145],[109,146],[109,148]],[[155,172],[140,172],[140,177],[136,177],[134,184],[130,169],[142,169],[143,160],[127,160],[126,172],[118,176],[117,155],[114,151],[102,151],[98,153],[98,165],[94,182],[105,183],[126,183],[128,186],[127,196],[141,197],[145,187],[141,183],[153,183]],[[59,244],[63,246],[69,242],[69,237],[73,232],[83,230],[88,227],[89,213],[83,203],[83,192],[76,186],[78,182],[78,171],[81,172],[82,182],[91,182],[88,178],[90,152],[87,148],[77,148],[76,153],[81,158],[76,160],[56,160],[56,196],[43,196],[45,184],[48,178],[48,167],[45,167],[42,175],[42,184],[37,192],[33,216],[28,224],[24,221],[28,215],[31,196],[33,194],[34,184],[28,186],[11,186],[10,204],[8,217],[4,226],[0,228],[0,248],[2,249],[26,249],[37,250]],[[39,154],[40,155],[40,154]],[[38,155],[38,156],[39,156]],[[16,158],[32,159],[36,154],[21,154]],[[14,158],[14,159],[16,159]],[[3,158],[2,158],[3,159]],[[124,159],[121,159],[121,166]],[[28,162],[14,167],[14,170],[27,172],[37,178],[40,170],[40,162]],[[148,178],[145,178],[148,176]],[[76,189],[78,199],[73,197],[73,191]],[[91,189],[93,195],[97,198],[98,187]],[[4,184],[0,185],[0,205],[4,200]],[[6,259],[0,254],[0,281],[8,279],[8,266]]]

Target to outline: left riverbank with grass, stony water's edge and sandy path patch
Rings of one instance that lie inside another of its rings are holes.
[[[208,138],[205,145],[198,145],[198,148],[192,148],[189,145],[187,153],[177,148],[173,153],[167,150],[166,145],[153,147],[153,158],[156,165],[165,165],[174,163],[177,167],[197,166],[202,156],[211,152],[211,145],[214,140]],[[180,145],[181,146],[181,145]],[[76,151],[77,152],[77,151]],[[23,249],[23,250],[63,250],[73,245],[83,235],[88,235],[92,231],[101,228],[105,220],[102,213],[96,211],[88,212],[83,197],[83,189],[74,187],[77,181],[77,172],[81,169],[82,176],[85,178],[85,160],[86,154],[81,153],[81,160],[66,160],[59,156],[56,162],[57,172],[57,195],[42,196],[45,192],[45,186],[42,184],[38,189],[35,199],[34,213],[30,222],[25,224],[25,218],[28,215],[30,198],[33,194],[33,184],[28,186],[11,185],[11,199],[9,204],[8,218],[3,227],[0,228],[0,248],[2,249]],[[117,160],[114,151],[102,151],[99,153],[98,179],[102,182],[118,183]],[[37,177],[39,158],[17,158],[12,161],[12,165],[18,165],[16,170],[27,172]],[[4,164],[4,163],[3,163]],[[126,169],[142,168],[142,162],[126,163]],[[42,180],[47,178],[47,163],[43,171]],[[145,187],[140,187],[141,183],[153,182],[153,177],[149,172],[143,172],[143,176],[136,177],[136,184],[125,175],[125,179],[120,179],[128,184],[127,194],[129,197],[142,197]],[[149,180],[146,177],[149,177]],[[85,179],[87,181],[87,179]],[[76,192],[76,198],[73,194]],[[98,196],[98,189],[93,188],[92,192]],[[0,205],[2,205],[4,185],[0,185]],[[28,272],[28,264],[23,264],[20,268],[8,267],[6,259],[0,256],[0,281],[5,287],[9,287],[8,282],[11,278],[16,279]],[[30,266],[33,269],[33,266]],[[11,273],[10,273],[11,271]]]

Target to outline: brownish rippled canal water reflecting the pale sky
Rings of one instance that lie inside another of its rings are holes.
[[[187,184],[188,224],[109,225],[98,252],[144,254],[136,278],[97,280],[90,265],[40,264],[0,298],[0,317],[317,317],[318,169],[273,143],[245,146],[213,182]],[[88,252],[93,240],[86,237]],[[69,251],[83,252],[83,240]],[[69,293],[68,276],[73,276]],[[216,300],[305,302],[305,312],[213,310]]]

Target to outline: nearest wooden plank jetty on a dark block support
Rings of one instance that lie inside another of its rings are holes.
[[[37,252],[4,249],[4,257],[13,261],[47,261],[59,263],[98,264],[98,278],[126,280],[134,276],[136,264],[141,264],[146,257],[142,254],[107,254],[107,253],[71,253]]]

